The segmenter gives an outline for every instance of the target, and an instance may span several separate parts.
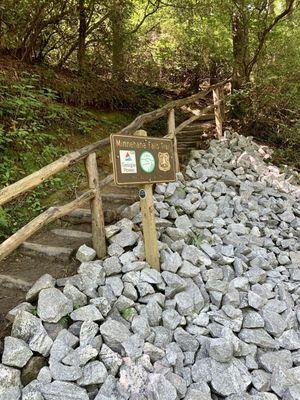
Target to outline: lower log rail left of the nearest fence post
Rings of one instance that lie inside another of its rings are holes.
[[[63,215],[68,214],[72,210],[76,210],[94,196],[94,190],[89,190],[70,203],[63,206],[50,207],[38,217],[34,218],[31,222],[23,226],[23,228],[18,230],[14,235],[6,239],[0,245],[0,261],[7,257],[12,251],[19,247],[20,244],[25,242],[25,240],[27,240],[43,226],[55,221],[58,218],[61,218]]]

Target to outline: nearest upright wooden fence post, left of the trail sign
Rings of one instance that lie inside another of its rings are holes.
[[[95,197],[90,200],[93,248],[96,250],[97,256],[102,258],[106,255],[106,238],[96,153],[91,153],[87,156],[85,166],[89,187],[95,191]]]

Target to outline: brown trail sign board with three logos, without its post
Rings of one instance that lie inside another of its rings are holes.
[[[176,180],[172,139],[111,135],[110,142],[117,185]]]

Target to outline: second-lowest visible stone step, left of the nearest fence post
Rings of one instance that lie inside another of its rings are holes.
[[[70,260],[72,254],[76,251],[76,247],[59,247],[59,246],[48,246],[40,243],[24,242],[20,246],[22,254],[43,256],[47,258],[54,258],[58,261],[67,262]]]

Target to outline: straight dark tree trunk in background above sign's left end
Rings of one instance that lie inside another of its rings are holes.
[[[113,0],[111,12],[112,24],[112,66],[113,78],[125,79],[125,2]]]

